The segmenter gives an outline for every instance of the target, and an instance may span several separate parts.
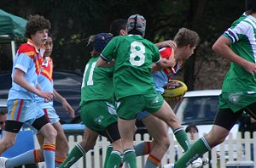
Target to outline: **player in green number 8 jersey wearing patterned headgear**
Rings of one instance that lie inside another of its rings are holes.
[[[182,127],[172,108],[155,91],[151,68],[152,63],[164,67],[159,49],[144,39],[146,20],[139,14],[131,15],[127,23],[128,36],[116,36],[102,51],[97,65],[114,65],[113,87],[119,101],[119,132],[124,147],[124,161],[130,167],[137,167],[133,149],[135,120],[139,112],[147,110],[161,120],[165,120],[172,129]],[[166,64],[165,64],[166,65]],[[184,133],[184,136],[186,134]],[[189,148],[189,141],[183,146]]]

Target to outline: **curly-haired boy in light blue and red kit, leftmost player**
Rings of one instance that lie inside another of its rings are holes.
[[[14,143],[21,126],[27,123],[35,127],[44,136],[44,160],[49,168],[55,165],[55,137],[57,132],[44,115],[43,109],[35,101],[35,95],[50,101],[53,92],[44,92],[38,87],[38,75],[41,71],[44,44],[50,28],[49,20],[33,15],[26,24],[27,42],[22,44],[15,56],[12,72],[12,87],[8,98],[8,117],[5,132],[0,140],[0,155]],[[24,155],[25,156],[25,155]],[[0,167],[13,167],[12,164],[27,157],[8,161],[0,158]]]

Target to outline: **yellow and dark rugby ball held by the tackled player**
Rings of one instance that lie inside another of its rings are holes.
[[[166,99],[175,99],[181,97],[188,91],[188,87],[182,81],[171,80],[163,87],[165,89],[163,97]]]

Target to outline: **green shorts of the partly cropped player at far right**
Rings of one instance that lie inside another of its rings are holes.
[[[219,109],[231,109],[237,112],[256,102],[256,93],[247,92],[222,92],[219,96]]]

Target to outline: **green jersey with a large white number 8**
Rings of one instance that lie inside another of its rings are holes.
[[[113,87],[116,98],[154,93],[153,62],[160,61],[159,49],[142,36],[116,36],[102,51],[102,59],[115,60]]]

